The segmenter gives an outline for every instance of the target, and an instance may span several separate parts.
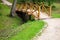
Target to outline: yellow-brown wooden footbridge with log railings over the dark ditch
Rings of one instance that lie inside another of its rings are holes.
[[[45,6],[44,3],[41,5],[37,4],[17,4],[16,10],[27,12],[28,15],[33,15],[34,18],[40,19],[40,17],[45,14],[45,16],[51,16],[51,6]],[[41,14],[42,13],[42,14]]]

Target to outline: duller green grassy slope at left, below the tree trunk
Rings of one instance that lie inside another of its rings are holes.
[[[0,4],[0,7],[0,40],[7,40],[7,37],[13,35],[13,31],[21,25],[21,20],[18,17],[8,16],[10,14],[8,6]]]

